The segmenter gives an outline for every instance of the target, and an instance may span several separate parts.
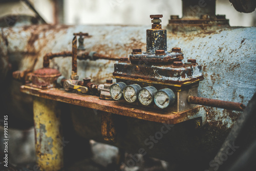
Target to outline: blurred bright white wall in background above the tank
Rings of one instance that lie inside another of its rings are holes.
[[[37,0],[39,1],[39,0]],[[163,14],[167,25],[170,15],[182,14],[181,0],[64,0],[65,23],[150,25],[150,14]],[[231,26],[253,26],[256,11],[237,12],[228,0],[218,0],[216,14],[225,14]],[[253,18],[254,17],[254,18]],[[255,22],[254,22],[255,23]]]

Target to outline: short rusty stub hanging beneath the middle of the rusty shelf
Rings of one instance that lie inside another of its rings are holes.
[[[115,127],[115,120],[114,114],[108,112],[102,112],[101,114],[101,134],[105,141],[116,141],[116,127]]]

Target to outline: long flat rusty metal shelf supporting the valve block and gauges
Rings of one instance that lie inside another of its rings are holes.
[[[206,112],[202,110],[204,109],[203,106],[196,106],[191,110],[181,113],[173,113],[129,104],[120,104],[116,101],[101,100],[97,96],[74,94],[58,89],[41,90],[30,86],[22,86],[20,91],[30,95],[79,105],[94,110],[160,123],[176,124],[195,117],[205,117],[206,114]]]

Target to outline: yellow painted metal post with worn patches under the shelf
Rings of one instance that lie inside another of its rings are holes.
[[[37,164],[40,170],[60,170],[63,167],[63,137],[58,102],[34,97],[33,110]]]

